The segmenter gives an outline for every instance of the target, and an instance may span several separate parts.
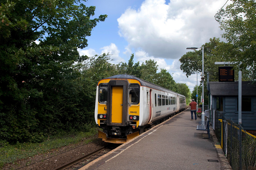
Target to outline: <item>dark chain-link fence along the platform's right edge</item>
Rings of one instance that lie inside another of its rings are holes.
[[[222,141],[222,149],[232,169],[256,170],[256,137],[240,124],[225,120],[225,112],[215,113],[215,134],[219,142]]]

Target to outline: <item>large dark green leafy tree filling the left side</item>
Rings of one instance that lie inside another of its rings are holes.
[[[61,111],[73,92],[64,90],[80,75],[74,62],[86,59],[77,48],[87,46],[86,36],[107,17],[91,19],[94,10],[80,0],[1,3],[1,139],[34,140],[50,125],[68,126],[72,111]]]

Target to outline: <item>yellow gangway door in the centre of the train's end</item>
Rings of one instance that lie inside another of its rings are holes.
[[[122,123],[123,119],[123,86],[112,87],[111,123]]]

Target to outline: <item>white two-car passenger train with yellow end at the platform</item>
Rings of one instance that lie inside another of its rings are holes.
[[[135,76],[121,74],[97,84],[95,121],[98,138],[125,143],[183,111],[186,97]]]

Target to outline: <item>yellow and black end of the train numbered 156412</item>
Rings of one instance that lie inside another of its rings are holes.
[[[95,121],[102,129],[98,137],[109,143],[125,143],[140,134],[140,81],[117,76],[97,85]]]

